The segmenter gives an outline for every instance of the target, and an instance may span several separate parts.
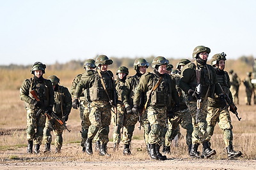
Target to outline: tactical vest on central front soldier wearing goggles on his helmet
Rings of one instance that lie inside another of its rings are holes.
[[[169,103],[169,95],[171,95],[170,83],[172,83],[170,81],[169,75],[164,74],[163,79],[159,86],[157,87],[157,89],[151,93],[151,96],[149,96],[150,90],[153,89],[153,87],[157,84],[159,79],[160,77],[156,76],[156,74],[154,74],[153,78],[150,78],[151,82],[149,81],[148,83],[147,92],[147,97],[149,97],[150,99],[149,104],[152,106],[167,106]]]

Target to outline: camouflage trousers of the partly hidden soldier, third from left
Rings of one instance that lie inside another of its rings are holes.
[[[91,125],[91,122],[89,120],[89,114],[90,114],[90,104],[86,101],[81,100],[80,101],[80,118],[81,118],[81,146],[84,146],[84,143],[87,138],[88,129]]]

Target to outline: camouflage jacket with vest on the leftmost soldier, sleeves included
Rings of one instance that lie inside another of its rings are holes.
[[[20,87],[20,99],[25,102],[25,106],[28,108],[35,108],[36,99],[30,94],[31,90],[35,90],[40,102],[42,102],[43,107],[54,105],[54,91],[52,88],[51,80],[41,78],[29,78],[23,81]]]

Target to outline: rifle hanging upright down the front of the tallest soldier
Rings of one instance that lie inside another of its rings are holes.
[[[201,79],[201,70],[200,69],[196,69],[196,94],[197,94],[197,100],[196,100],[196,120],[195,123],[198,122],[198,116],[200,114],[201,111],[201,102],[202,102],[202,97],[201,97],[201,92],[202,92],[202,85],[200,83],[200,79]]]

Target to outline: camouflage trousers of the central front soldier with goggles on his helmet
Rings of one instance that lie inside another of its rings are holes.
[[[147,116],[151,127],[151,131],[148,134],[148,143],[163,145],[163,132],[164,126],[166,125],[166,107],[156,108],[149,106],[147,108]]]

